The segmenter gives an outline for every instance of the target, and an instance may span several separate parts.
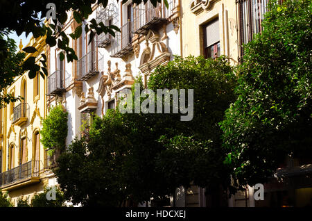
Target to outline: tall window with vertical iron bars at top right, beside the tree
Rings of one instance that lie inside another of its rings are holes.
[[[267,11],[268,0],[238,1],[240,54],[243,56],[243,44],[247,44],[256,33],[261,33],[263,15]]]

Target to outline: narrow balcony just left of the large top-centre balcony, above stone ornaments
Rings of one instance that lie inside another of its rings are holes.
[[[116,33],[112,40],[112,55],[113,58],[121,58],[128,54],[132,49],[132,22],[125,23],[121,28],[121,33]]]

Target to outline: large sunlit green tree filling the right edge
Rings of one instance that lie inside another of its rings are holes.
[[[311,10],[311,0],[270,3],[245,45],[238,98],[221,124],[239,186],[266,182],[287,155],[311,156]]]

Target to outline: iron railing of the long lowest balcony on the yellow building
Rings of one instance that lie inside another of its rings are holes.
[[[6,186],[30,177],[39,177],[41,161],[29,161],[0,174],[0,186]]]

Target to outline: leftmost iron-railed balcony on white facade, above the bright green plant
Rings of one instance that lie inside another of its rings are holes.
[[[67,71],[56,70],[48,76],[47,95],[59,95],[66,91],[71,83],[71,76]]]

